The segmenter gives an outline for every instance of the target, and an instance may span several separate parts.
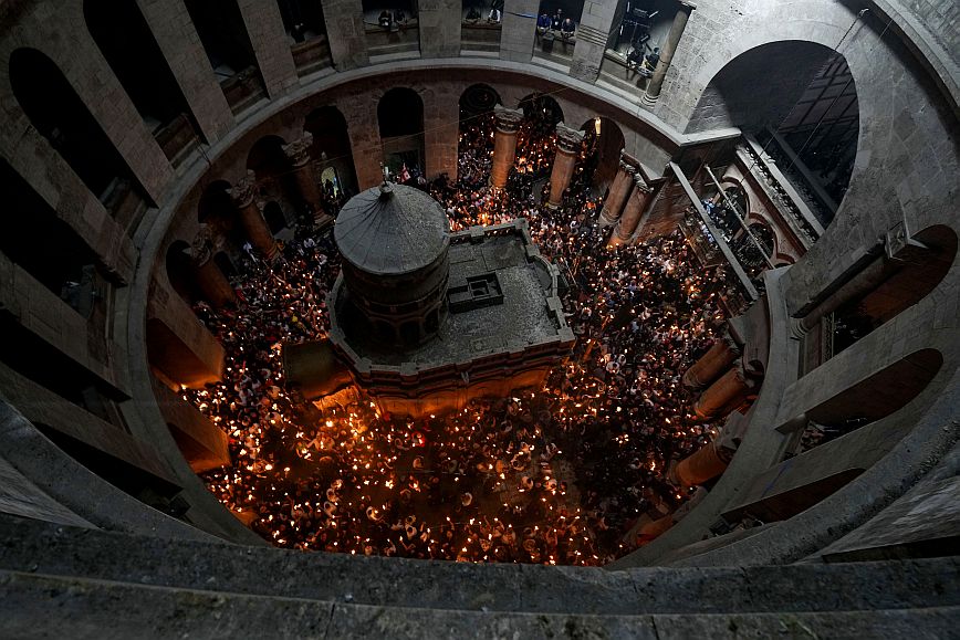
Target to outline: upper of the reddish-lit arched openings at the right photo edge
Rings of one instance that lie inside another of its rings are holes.
[[[957,233],[946,225],[928,227],[914,239],[925,249],[911,260],[888,261],[880,284],[841,305],[826,317],[836,355],[891,321],[933,291],[957,258]]]

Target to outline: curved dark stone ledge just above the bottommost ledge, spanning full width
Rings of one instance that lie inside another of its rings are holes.
[[[960,559],[606,570],[303,553],[0,517],[0,569],[311,601],[602,616],[960,605]]]

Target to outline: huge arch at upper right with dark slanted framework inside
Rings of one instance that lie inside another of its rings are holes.
[[[756,78],[766,78],[756,91]],[[842,54],[800,40],[741,53],[710,81],[687,133],[735,126],[754,136],[826,227],[849,183],[859,108]]]

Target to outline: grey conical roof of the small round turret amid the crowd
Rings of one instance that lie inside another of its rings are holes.
[[[344,260],[368,273],[401,274],[439,259],[450,243],[447,214],[428,193],[384,182],[344,204],[333,230]]]

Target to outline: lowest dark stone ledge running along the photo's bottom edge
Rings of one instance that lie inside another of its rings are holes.
[[[0,637],[947,638],[957,607],[774,613],[523,613],[367,606],[0,570]]]

